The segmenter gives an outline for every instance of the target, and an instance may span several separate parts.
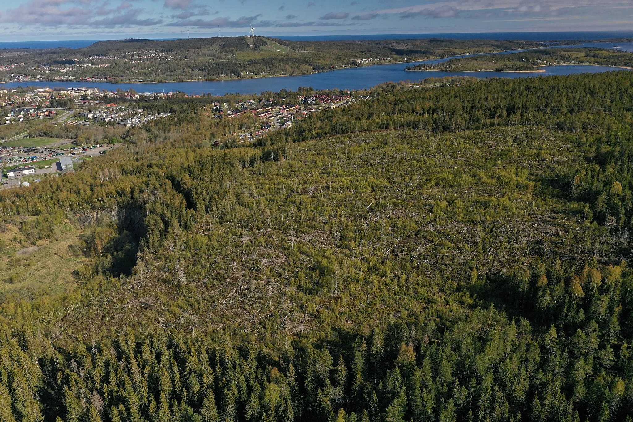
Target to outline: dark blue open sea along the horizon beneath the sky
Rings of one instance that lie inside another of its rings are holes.
[[[265,35],[266,37],[291,41],[340,41],[340,40],[380,40],[380,39],[498,39],[529,41],[561,41],[561,40],[604,40],[633,38],[633,31],[561,31],[561,32],[465,32],[442,34],[347,34],[347,35]],[[179,38],[151,38],[153,40],[175,40]],[[78,49],[91,46],[96,40],[42,40],[42,41],[0,41],[0,49]]]

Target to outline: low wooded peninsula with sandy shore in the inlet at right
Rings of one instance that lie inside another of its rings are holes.
[[[493,54],[490,56],[471,56],[454,58],[432,64],[407,66],[406,71],[451,70],[451,71],[537,71],[538,66],[546,65],[600,65],[630,68],[633,66],[633,54],[627,51],[602,49],[596,47],[567,48],[556,47],[536,49],[511,54]]]

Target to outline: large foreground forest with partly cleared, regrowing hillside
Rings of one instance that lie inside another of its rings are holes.
[[[4,249],[0,418],[631,421],[633,73],[372,92],[1,191],[3,232],[80,230],[82,264],[27,289]]]

